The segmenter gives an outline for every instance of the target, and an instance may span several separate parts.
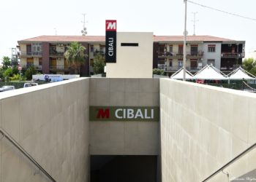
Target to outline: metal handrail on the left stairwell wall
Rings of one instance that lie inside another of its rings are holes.
[[[34,163],[34,165],[36,165],[39,170],[42,170],[43,173],[45,173],[45,175],[48,176],[48,178],[50,178],[51,181],[56,182],[38,163],[37,161],[35,161],[29,154],[28,152],[26,152],[19,143],[17,143],[6,131],[4,131],[3,128],[0,127],[0,132],[3,134],[3,138],[6,137],[10,142],[12,142],[13,145],[15,145],[23,154],[26,155],[26,157],[28,157],[31,162]],[[1,138],[2,139],[2,138]]]

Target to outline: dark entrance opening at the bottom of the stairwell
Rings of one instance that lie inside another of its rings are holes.
[[[157,156],[91,155],[91,182],[157,182]]]

